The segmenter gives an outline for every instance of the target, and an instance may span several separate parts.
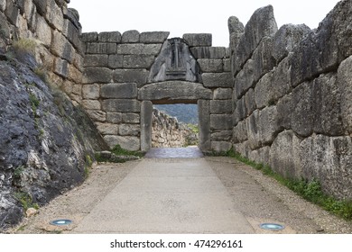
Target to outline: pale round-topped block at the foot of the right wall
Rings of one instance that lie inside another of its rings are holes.
[[[270,149],[269,164],[273,170],[285,177],[301,177],[301,140],[292,130],[281,132]]]

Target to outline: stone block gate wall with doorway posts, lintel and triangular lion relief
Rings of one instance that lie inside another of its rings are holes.
[[[232,79],[228,49],[208,33],[88,32],[82,105],[110,147],[148,150],[153,103],[197,103],[199,148],[231,148]]]

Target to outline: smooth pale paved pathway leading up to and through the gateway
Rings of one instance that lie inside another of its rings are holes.
[[[199,155],[197,148],[190,149],[184,149],[189,157],[190,153]],[[153,156],[170,157],[170,149],[161,150],[158,154],[153,149]],[[174,157],[182,152],[173,150]],[[73,231],[253,233],[254,229],[206,159],[151,158],[135,166]]]

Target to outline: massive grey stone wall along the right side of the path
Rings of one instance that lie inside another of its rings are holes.
[[[352,198],[352,1],[317,30],[277,29],[273,7],[229,19],[234,148],[282,175]]]

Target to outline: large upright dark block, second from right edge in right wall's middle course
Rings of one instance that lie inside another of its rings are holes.
[[[336,74],[320,75],[316,78],[312,94],[314,132],[329,136],[343,135],[343,115],[340,107],[342,99]]]

